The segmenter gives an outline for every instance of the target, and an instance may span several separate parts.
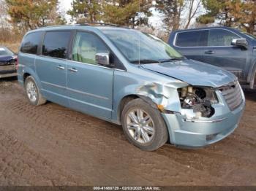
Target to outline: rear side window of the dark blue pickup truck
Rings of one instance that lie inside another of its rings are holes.
[[[179,32],[176,36],[178,47],[205,47],[208,30]]]

